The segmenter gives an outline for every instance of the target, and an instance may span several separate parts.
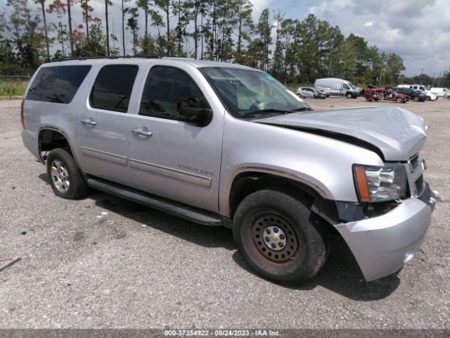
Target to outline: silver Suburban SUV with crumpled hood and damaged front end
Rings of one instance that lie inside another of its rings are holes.
[[[230,227],[276,282],[316,275],[335,235],[366,280],[389,275],[430,225],[425,125],[401,108],[312,111],[260,70],[184,58],[47,63],[25,95],[23,143],[56,195]]]

